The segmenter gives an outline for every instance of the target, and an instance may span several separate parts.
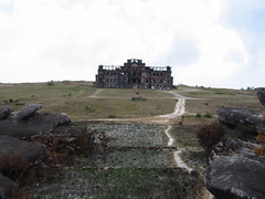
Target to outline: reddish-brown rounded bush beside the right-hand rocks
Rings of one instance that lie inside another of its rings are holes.
[[[210,155],[213,147],[220,142],[223,137],[223,128],[219,122],[213,122],[209,125],[203,125],[198,132],[197,137],[199,138],[200,145],[206,153],[206,156]]]

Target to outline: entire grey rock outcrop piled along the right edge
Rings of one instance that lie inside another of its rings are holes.
[[[265,90],[257,96],[265,104]],[[264,149],[256,143],[257,133],[265,132],[262,113],[224,107],[218,113],[224,136],[213,147],[206,168],[206,187],[219,198],[265,198],[265,157],[255,154]]]

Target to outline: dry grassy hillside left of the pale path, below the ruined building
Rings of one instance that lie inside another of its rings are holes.
[[[73,121],[95,118],[131,118],[169,114],[176,100],[171,94],[150,90],[99,90],[89,82],[0,84],[0,107],[15,111],[30,103],[43,104],[43,112],[66,113]],[[138,94],[137,94],[138,92]],[[147,101],[131,101],[142,96]]]

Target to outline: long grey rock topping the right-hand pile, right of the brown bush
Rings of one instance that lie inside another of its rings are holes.
[[[265,128],[262,113],[246,108],[223,107],[218,112],[218,119],[231,127],[245,126],[252,133]]]

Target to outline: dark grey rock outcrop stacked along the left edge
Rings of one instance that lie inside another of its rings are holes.
[[[17,180],[15,174],[19,175],[17,165],[38,167],[46,159],[46,146],[26,140],[31,140],[35,135],[42,136],[42,133],[57,132],[56,128],[60,135],[64,135],[64,132],[66,136],[78,133],[70,126],[71,119],[66,114],[38,113],[41,108],[41,104],[31,104],[17,115],[11,114],[11,107],[0,108],[0,199],[8,198],[12,190],[18,188],[11,180]],[[64,128],[65,126],[70,126],[70,129]]]

